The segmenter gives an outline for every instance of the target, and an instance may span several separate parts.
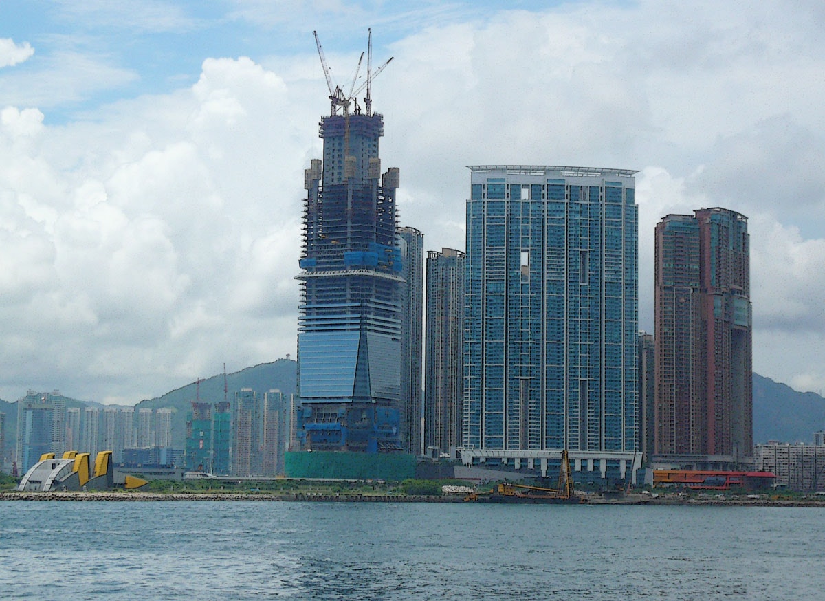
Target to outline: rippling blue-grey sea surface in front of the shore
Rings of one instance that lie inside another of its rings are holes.
[[[2,599],[822,599],[825,509],[0,503]]]

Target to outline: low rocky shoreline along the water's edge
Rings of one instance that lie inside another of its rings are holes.
[[[148,493],[140,491],[95,491],[95,492],[0,492],[0,501],[126,501],[126,502],[169,502],[169,501],[323,501],[340,503],[464,503],[464,496],[428,496],[428,495],[361,495],[342,493],[322,495],[314,493]],[[588,495],[587,504],[591,505],[687,505],[718,507],[825,507],[825,499],[697,499],[659,497],[651,499],[648,495],[624,495],[615,498],[603,498]]]

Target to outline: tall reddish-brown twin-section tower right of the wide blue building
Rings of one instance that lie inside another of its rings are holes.
[[[719,207],[656,225],[656,459],[753,461],[747,217]]]

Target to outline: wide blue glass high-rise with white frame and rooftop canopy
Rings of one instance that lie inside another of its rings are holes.
[[[469,169],[462,461],[634,478],[635,172]]]

